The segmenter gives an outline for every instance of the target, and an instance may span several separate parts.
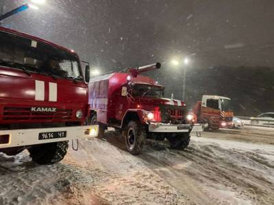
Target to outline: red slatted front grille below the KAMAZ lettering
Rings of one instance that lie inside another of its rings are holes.
[[[4,107],[2,120],[71,120],[71,109],[57,109],[55,112],[34,112],[29,107]]]

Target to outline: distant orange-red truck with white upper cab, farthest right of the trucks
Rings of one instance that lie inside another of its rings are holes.
[[[234,112],[230,98],[204,95],[191,113],[195,115],[193,122],[204,124],[205,128],[211,131],[233,126]]]

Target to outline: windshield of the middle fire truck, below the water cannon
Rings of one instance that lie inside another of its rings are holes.
[[[136,84],[132,88],[132,96],[164,97],[164,87]]]

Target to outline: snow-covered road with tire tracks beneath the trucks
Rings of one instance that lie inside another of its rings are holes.
[[[149,141],[132,156],[110,131],[52,166],[35,165],[27,152],[0,155],[0,204],[274,203],[273,130],[202,136],[185,151]]]

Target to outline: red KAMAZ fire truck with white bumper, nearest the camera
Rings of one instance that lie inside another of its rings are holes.
[[[84,126],[86,77],[73,51],[0,27],[0,152],[29,151],[38,164],[58,163],[71,139],[97,137]]]

